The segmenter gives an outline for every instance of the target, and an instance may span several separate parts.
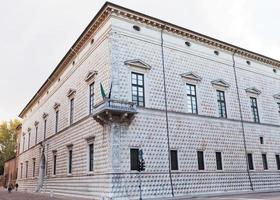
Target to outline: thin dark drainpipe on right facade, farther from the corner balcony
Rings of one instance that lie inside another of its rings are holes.
[[[240,92],[239,92],[239,87],[238,87],[237,73],[236,73],[236,63],[235,63],[235,58],[234,58],[234,55],[236,54],[236,52],[237,52],[237,49],[235,49],[234,53],[232,54],[232,63],[233,63],[232,67],[233,67],[233,71],[234,71],[235,87],[236,87],[236,92],[237,92],[238,107],[239,107],[240,121],[241,121],[241,127],[242,127],[243,145],[244,145],[245,158],[246,158],[246,164],[247,164],[247,174],[248,174],[251,190],[254,190],[252,179],[251,179],[251,174],[250,174],[250,169],[249,169],[249,161],[248,161],[248,157],[247,157],[248,152],[247,152],[247,145],[246,145],[245,128],[244,128],[243,114],[242,114],[242,108],[241,108],[241,100],[240,100]]]

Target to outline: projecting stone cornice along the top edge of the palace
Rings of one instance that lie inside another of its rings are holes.
[[[91,39],[92,35],[102,26],[102,24],[104,24],[104,22],[107,21],[107,19],[111,15],[120,16],[128,20],[133,20],[135,22],[139,22],[151,27],[163,29],[172,34],[184,37],[190,41],[194,41],[196,43],[203,43],[204,45],[211,46],[215,49],[221,49],[230,53],[235,53],[236,55],[280,68],[280,61],[278,60],[263,56],[258,53],[254,53],[252,51],[234,46],[226,42],[222,42],[209,36],[202,35],[200,33],[185,29],[183,27],[145,15],[143,13],[139,13],[121,7],[119,5],[106,2],[100,9],[100,11],[96,14],[96,16],[93,18],[93,20],[89,23],[89,25],[86,27],[86,29],[82,32],[80,37],[76,40],[73,46],[69,49],[66,55],[62,58],[55,70],[49,76],[49,78],[45,81],[45,83],[41,86],[38,92],[33,96],[33,98],[21,111],[19,117],[23,117],[25,113],[29,110],[29,108],[31,108],[33,103],[36,102],[40,98],[40,96],[42,96],[42,94],[44,94],[44,92],[51,86],[52,82],[66,69],[69,63],[71,63],[75,59],[76,55],[80,53],[84,45]]]

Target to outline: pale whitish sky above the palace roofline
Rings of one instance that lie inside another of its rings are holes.
[[[278,0],[112,0],[280,60]],[[18,116],[103,0],[0,0],[0,121]]]

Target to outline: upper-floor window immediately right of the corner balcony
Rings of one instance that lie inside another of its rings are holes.
[[[132,102],[137,106],[145,106],[144,95],[144,75],[138,73],[131,73],[132,82]]]

